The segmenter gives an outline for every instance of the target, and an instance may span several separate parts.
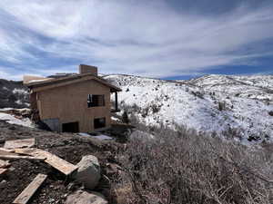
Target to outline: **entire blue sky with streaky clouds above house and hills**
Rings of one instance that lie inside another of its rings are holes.
[[[272,0],[1,0],[0,78],[273,73]]]

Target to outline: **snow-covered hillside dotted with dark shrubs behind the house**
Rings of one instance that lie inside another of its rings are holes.
[[[129,75],[107,75],[147,125],[186,125],[197,131],[232,133],[238,140],[273,140],[273,76],[207,75],[167,82]],[[139,108],[137,108],[139,107]]]

